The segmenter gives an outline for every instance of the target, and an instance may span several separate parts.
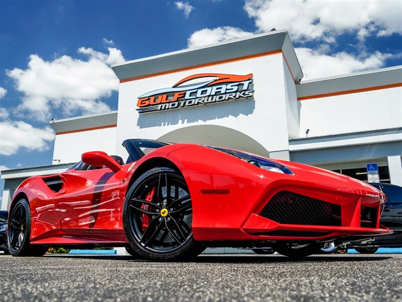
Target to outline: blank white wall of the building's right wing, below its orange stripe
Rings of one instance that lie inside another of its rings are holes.
[[[300,101],[300,136],[402,127],[402,88]]]

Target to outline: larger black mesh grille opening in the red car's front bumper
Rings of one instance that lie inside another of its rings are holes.
[[[276,193],[261,216],[283,224],[341,226],[341,206],[288,191]]]

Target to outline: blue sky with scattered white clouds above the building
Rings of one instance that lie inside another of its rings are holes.
[[[289,30],[305,79],[400,65],[401,11],[400,1],[2,0],[0,166],[51,164],[51,118],[116,110],[111,65],[271,28]]]

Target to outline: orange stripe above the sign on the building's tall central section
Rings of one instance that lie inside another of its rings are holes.
[[[194,65],[194,66],[188,66],[188,67],[183,67],[183,68],[178,68],[178,69],[172,69],[172,70],[167,70],[167,71],[162,71],[162,72],[157,72],[157,73],[150,73],[150,74],[140,75],[139,77],[133,77],[133,78],[120,80],[120,83],[126,83],[126,82],[146,79],[146,78],[158,77],[158,75],[164,75],[164,74],[169,74],[169,73],[174,73],[174,72],[197,69],[197,68],[201,68],[201,67],[214,66],[214,65],[219,65],[219,64],[229,63],[229,62],[248,60],[248,59],[252,59],[252,58],[268,56],[268,55],[273,55],[273,54],[279,54],[279,53],[282,53],[281,49],[268,51],[268,52],[257,53],[257,54],[246,55],[246,56],[232,58],[232,59],[226,59],[226,60],[222,60],[222,61],[215,61],[215,62],[200,64],[200,65]],[[283,55],[283,53],[282,53],[282,55]],[[283,57],[285,57],[285,56],[283,55]],[[285,61],[286,61],[286,58],[285,58]],[[286,65],[287,65],[287,61],[286,61]],[[287,68],[289,68],[289,65],[287,65]],[[292,76],[292,78],[294,80],[294,77],[293,77],[293,74],[292,74],[290,68],[289,68],[289,71],[290,71],[290,74],[291,74],[291,76]]]

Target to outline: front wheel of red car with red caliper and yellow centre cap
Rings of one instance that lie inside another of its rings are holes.
[[[191,222],[192,203],[187,184],[173,169],[147,171],[126,195],[124,232],[133,250],[145,259],[187,261],[204,251],[192,237]]]

